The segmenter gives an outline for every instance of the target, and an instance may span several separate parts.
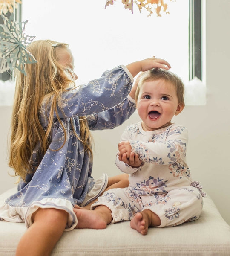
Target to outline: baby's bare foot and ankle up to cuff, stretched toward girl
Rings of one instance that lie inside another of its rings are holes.
[[[112,221],[111,210],[104,205],[99,205],[93,211],[75,208],[74,212],[78,218],[76,228],[104,229]]]

